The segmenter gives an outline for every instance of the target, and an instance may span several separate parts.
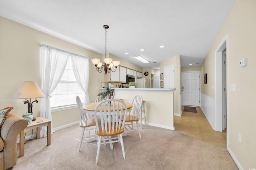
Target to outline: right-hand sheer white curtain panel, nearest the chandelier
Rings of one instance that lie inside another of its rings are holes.
[[[72,67],[79,87],[84,92],[84,104],[90,103],[88,95],[89,58],[71,53]]]

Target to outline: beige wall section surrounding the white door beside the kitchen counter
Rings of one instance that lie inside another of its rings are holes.
[[[167,59],[166,61],[160,63],[160,74],[164,72],[164,67],[174,65],[174,88],[176,88],[174,92],[174,113],[181,113],[181,63],[180,63],[180,55],[176,55]]]

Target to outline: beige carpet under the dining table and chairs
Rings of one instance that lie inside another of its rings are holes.
[[[51,136],[25,144],[24,156],[17,159],[13,170],[237,170],[224,148],[188,137],[176,131],[143,125],[138,132],[124,138],[126,159],[119,143],[114,150],[102,145],[95,165],[96,141],[82,143],[78,151],[81,128],[74,125]],[[19,152],[18,152],[19,153]]]

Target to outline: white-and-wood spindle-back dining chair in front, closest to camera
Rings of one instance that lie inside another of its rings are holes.
[[[123,119],[121,119],[122,115]],[[126,115],[127,106],[121,100],[103,100],[95,107],[94,118],[96,120],[96,133],[98,135],[96,164],[98,163],[101,144],[110,144],[112,150],[113,143],[121,143],[123,157],[125,159],[122,133],[124,132]],[[96,119],[97,117],[100,117],[100,120]]]

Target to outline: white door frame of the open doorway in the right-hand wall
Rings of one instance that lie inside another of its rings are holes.
[[[215,131],[222,132],[222,119],[223,119],[223,109],[222,105],[226,104],[228,106],[228,90],[226,90],[226,98],[227,98],[227,103],[226,101],[222,100],[222,96],[224,93],[224,90],[222,89],[223,87],[223,81],[222,81],[222,51],[227,48],[226,51],[226,63],[228,63],[228,34],[222,39],[220,45],[218,48],[215,50],[215,90],[214,90],[214,100],[215,100]],[[226,64],[226,87],[228,87],[228,64]],[[228,89],[228,88],[227,88]],[[228,107],[226,108],[226,115],[228,117]],[[228,127],[228,121],[227,125]],[[228,128],[227,128],[227,143],[228,143]]]

